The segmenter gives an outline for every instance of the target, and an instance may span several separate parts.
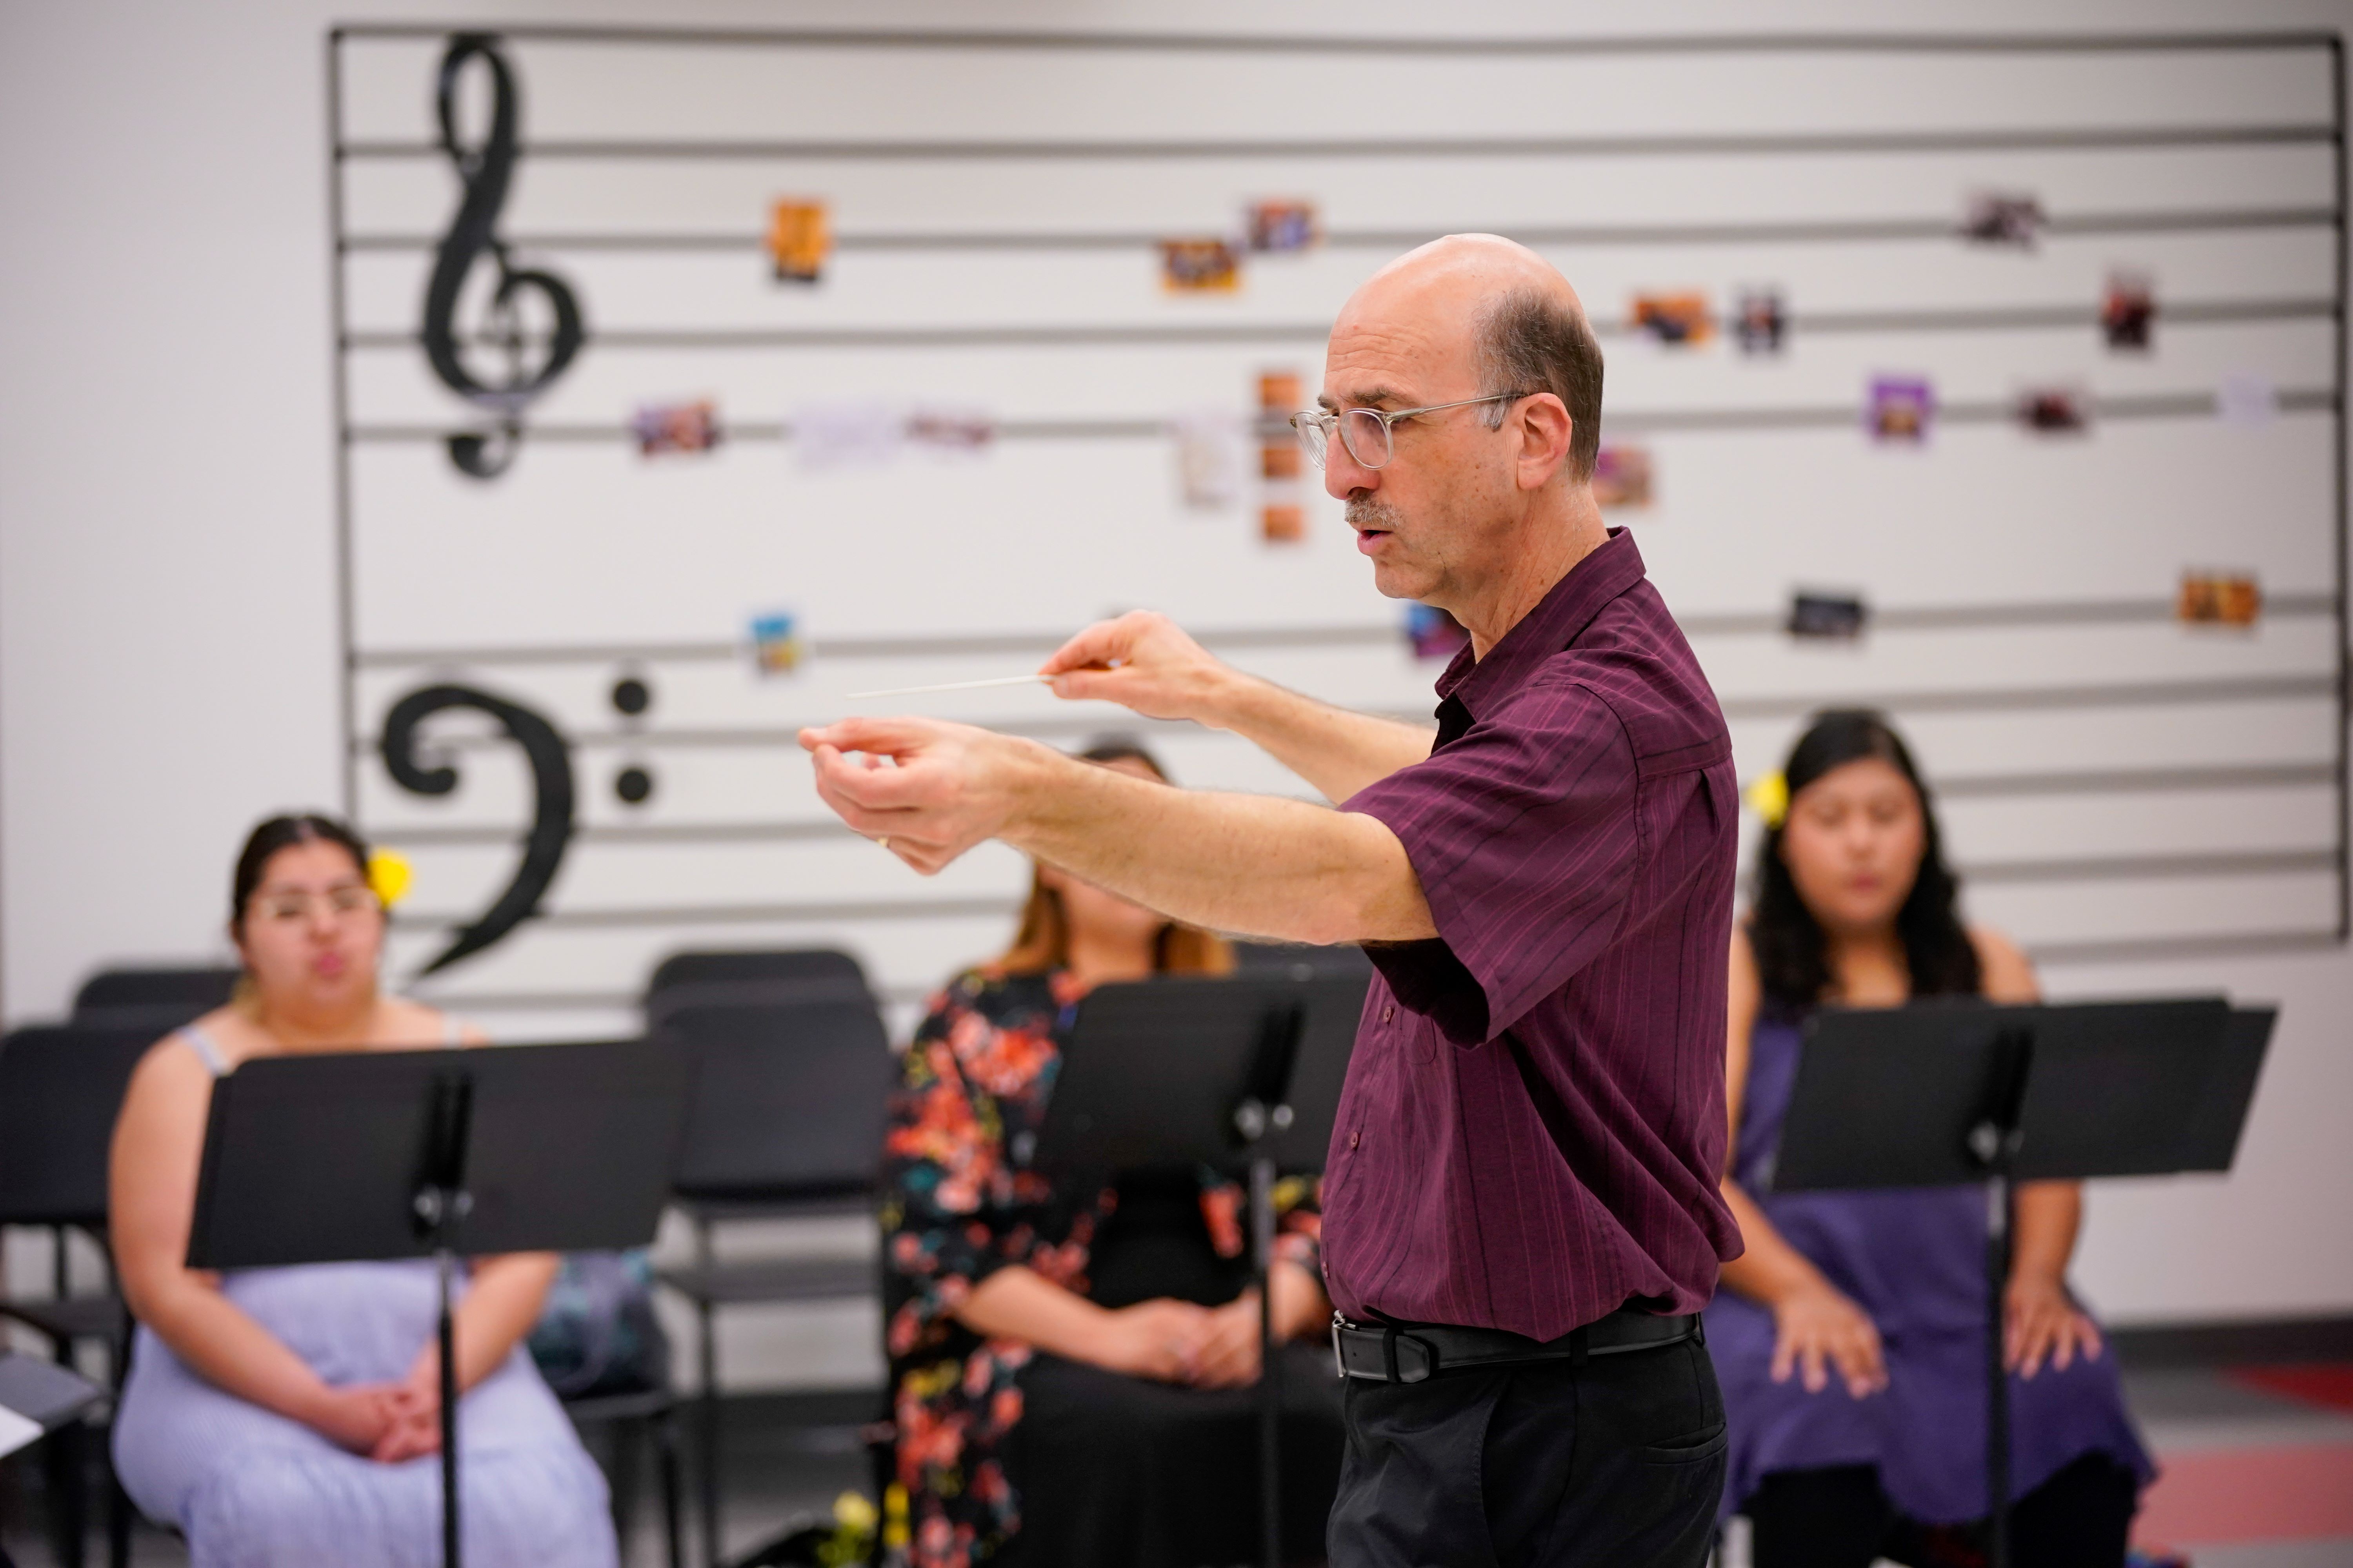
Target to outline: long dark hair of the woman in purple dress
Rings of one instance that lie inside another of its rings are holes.
[[[1897,910],[1897,936],[1904,938],[1904,966],[1911,971],[1913,997],[1974,997],[1984,987],[1977,945],[1960,924],[1960,877],[1944,863],[1944,835],[1937,830],[1937,802],[1920,783],[1911,748],[1892,724],[1868,708],[1838,708],[1814,715],[1812,729],[1798,736],[1781,769],[1788,799],[1835,766],[1878,757],[1911,780],[1920,797],[1920,872],[1913,877],[1904,907]],[[1821,922],[1798,896],[1798,882],[1781,858],[1784,823],[1767,825],[1765,851],[1758,856],[1755,910],[1748,917],[1748,945],[1758,957],[1765,994],[1781,1009],[1807,1009],[1821,1001],[1831,985],[1831,964]]]

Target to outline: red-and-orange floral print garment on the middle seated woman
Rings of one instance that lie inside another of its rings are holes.
[[[1089,1244],[1113,1190],[1056,1192],[1028,1157],[1085,985],[1068,971],[972,971],[915,1030],[882,1143],[885,1324],[908,1552],[918,1568],[991,1559],[1021,1526],[1007,1436],[1033,1349],[984,1340],[955,1309],[1024,1265],[1087,1295]],[[1202,1222],[1240,1258],[1242,1190],[1202,1171]],[[1320,1269],[1313,1182],[1282,1182],[1278,1258]]]

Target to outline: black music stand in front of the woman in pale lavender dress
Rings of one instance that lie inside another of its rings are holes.
[[[268,1056],[212,1086],[191,1269],[438,1265],[447,1568],[459,1568],[456,1258],[647,1246],[685,1100],[678,1058],[633,1039]]]

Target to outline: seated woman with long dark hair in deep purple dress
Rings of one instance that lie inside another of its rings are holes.
[[[1937,816],[1904,741],[1826,712],[1767,818],[1755,910],[1732,938],[1725,1199],[1748,1241],[1708,1307],[1755,1568],[1981,1561],[1984,1197],[1974,1187],[1769,1194],[1805,1016],[1826,1001],[2033,1001],[2026,957],[1955,914]],[[2118,1568],[2153,1476],[2113,1356],[2066,1286],[2075,1182],[2017,1192],[2005,1295],[2012,1561]]]

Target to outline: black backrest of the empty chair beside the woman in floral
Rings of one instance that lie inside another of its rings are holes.
[[[873,1190],[894,1063],[864,980],[682,1001],[647,1030],[694,1060],[680,1194],[795,1201]]]

